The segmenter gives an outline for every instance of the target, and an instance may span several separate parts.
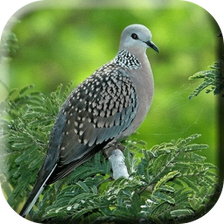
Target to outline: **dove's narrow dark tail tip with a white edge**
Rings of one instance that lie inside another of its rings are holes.
[[[54,168],[51,170],[50,174],[47,176],[47,178],[45,179],[37,179],[37,182],[35,183],[33,190],[31,191],[28,199],[26,200],[26,203],[24,204],[22,210],[19,213],[19,217],[20,219],[24,222],[24,219],[26,217],[26,215],[30,212],[30,210],[32,209],[32,207],[34,206],[34,204],[36,203],[39,195],[42,193],[42,191],[44,190],[44,187],[46,185],[46,182],[48,181],[48,179],[50,178],[51,174],[53,173],[53,171],[55,170],[57,164],[55,164]]]

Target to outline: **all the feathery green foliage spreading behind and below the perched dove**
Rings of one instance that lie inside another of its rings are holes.
[[[59,107],[71,91],[59,86],[50,96],[11,91],[1,104],[1,187],[15,211],[24,201],[41,167]],[[4,127],[4,128],[2,128]],[[66,178],[48,186],[30,215],[37,223],[190,223],[199,221],[222,192],[216,167],[197,154],[200,135],[147,149],[126,140],[130,179],[114,181],[109,161],[100,153]],[[4,141],[3,141],[4,140]],[[4,169],[7,167],[7,170]]]

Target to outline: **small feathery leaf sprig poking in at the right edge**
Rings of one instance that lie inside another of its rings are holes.
[[[189,80],[203,79],[203,82],[191,93],[189,99],[197,96],[202,90],[214,95],[222,95],[224,91],[224,61],[219,60],[210,66],[210,70],[200,71],[189,77]]]

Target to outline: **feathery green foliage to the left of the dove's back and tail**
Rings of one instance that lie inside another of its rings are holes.
[[[6,193],[13,209],[35,182],[58,108],[70,92],[67,87],[62,94],[62,86],[59,86],[46,97],[40,92],[30,92],[32,89],[30,85],[20,91],[12,90],[0,105],[0,173],[4,173],[10,183]]]

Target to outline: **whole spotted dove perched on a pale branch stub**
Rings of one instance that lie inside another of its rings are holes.
[[[78,85],[62,105],[47,155],[19,216],[24,220],[46,187],[70,174],[108,144],[131,135],[153,98],[153,75],[146,55],[158,52],[147,27],[127,26],[113,60]]]

